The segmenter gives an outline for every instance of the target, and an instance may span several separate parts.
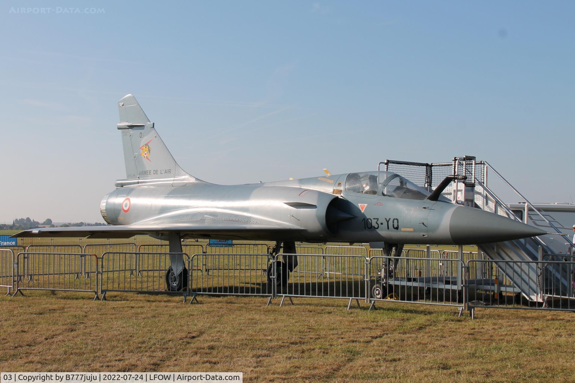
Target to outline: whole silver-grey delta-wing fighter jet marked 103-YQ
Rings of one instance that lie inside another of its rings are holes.
[[[404,243],[477,245],[546,234],[545,231],[441,195],[462,176],[449,176],[431,193],[391,172],[357,172],[244,185],[217,185],[182,170],[132,95],[118,103],[118,130],[127,177],[104,196],[100,211],[113,226],[53,227],[13,237],[129,238],[148,234],[182,252],[182,238],[275,241],[272,252],[296,254],[296,241],[378,242],[385,254]],[[187,270],[171,256],[170,290],[181,289]],[[277,262],[287,282],[297,256]],[[271,266],[270,266],[271,267]],[[279,274],[278,274],[279,273]],[[270,273],[269,273],[270,274]]]

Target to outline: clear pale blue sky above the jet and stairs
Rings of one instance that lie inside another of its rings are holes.
[[[574,15],[568,1],[3,2],[0,222],[102,222],[128,93],[214,183],[469,154],[535,202],[569,201]]]

